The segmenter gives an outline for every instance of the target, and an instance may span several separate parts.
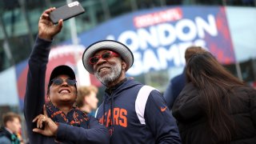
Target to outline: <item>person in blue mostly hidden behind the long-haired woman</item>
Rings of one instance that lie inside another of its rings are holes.
[[[198,52],[206,51],[201,46],[190,46],[185,51],[185,61],[186,63],[193,54]],[[182,89],[186,84],[186,74],[185,68],[182,71],[182,74],[178,74],[176,77],[172,78],[166,87],[166,91],[163,93],[163,97],[166,99],[167,106],[171,110],[174,105],[175,99],[178,97],[178,94],[181,93]]]

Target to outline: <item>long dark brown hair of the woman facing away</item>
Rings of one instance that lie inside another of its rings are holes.
[[[198,88],[210,133],[218,141],[230,142],[234,121],[229,114],[230,93],[244,83],[223,67],[210,52],[194,54],[186,65],[186,80]]]

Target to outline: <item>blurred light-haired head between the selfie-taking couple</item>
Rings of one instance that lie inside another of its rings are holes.
[[[96,86],[78,87],[77,106],[80,110],[89,114],[98,107],[98,88]]]

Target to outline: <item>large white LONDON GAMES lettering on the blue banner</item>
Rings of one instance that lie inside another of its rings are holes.
[[[206,48],[204,37],[218,35],[213,15],[203,18],[182,19],[175,24],[161,23],[156,26],[126,30],[117,38],[134,54],[134,65],[127,74],[138,75],[150,70],[166,70],[170,66],[185,66],[185,50],[189,46]],[[114,39],[113,35],[107,38]]]

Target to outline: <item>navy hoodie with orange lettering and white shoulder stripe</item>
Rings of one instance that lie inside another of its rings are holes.
[[[133,79],[106,90],[96,118],[109,129],[110,143],[181,143],[162,94]]]

